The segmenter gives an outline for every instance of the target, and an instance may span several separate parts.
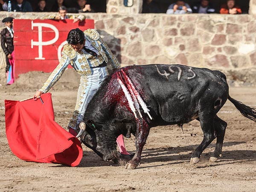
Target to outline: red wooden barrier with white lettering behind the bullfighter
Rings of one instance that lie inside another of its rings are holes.
[[[94,20],[73,23],[73,20],[15,19],[15,76],[29,71],[52,72],[61,58],[71,29],[94,29]]]

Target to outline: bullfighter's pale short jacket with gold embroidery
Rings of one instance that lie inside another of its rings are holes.
[[[44,86],[40,89],[41,91],[47,93],[61,78],[69,64],[71,64],[71,66],[80,75],[90,75],[92,73],[90,67],[97,67],[104,61],[106,63],[109,61],[113,69],[119,67],[119,63],[116,60],[116,57],[113,55],[105,42],[102,41],[102,38],[99,36],[99,33],[95,29],[85,30],[84,37],[86,41],[90,41],[92,46],[98,51],[98,55],[92,56],[84,49],[82,49],[80,52],[76,52],[70,44],[64,45],[61,52],[61,61],[55,70],[53,70],[47,81],[44,83]]]

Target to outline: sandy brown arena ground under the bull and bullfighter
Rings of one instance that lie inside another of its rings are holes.
[[[256,191],[256,123],[242,116],[231,102],[218,113],[228,123],[222,157],[209,163],[215,142],[201,161],[190,165],[192,151],[203,139],[195,120],[183,126],[152,128],[141,165],[134,170],[108,163],[83,145],[77,167],[33,163],[18,159],[5,134],[4,99],[21,100],[34,95],[49,76],[27,73],[10,86],[0,86],[0,192],[253,192]],[[67,127],[76,102],[79,77],[67,70],[51,90],[55,121]],[[67,76],[69,78],[67,78]],[[256,108],[256,87],[230,87],[230,96]],[[134,152],[134,137],[125,138]]]

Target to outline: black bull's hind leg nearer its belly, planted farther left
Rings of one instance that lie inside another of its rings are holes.
[[[215,131],[213,126],[213,115],[204,113],[202,116],[199,116],[199,121],[201,124],[202,131],[204,133],[204,139],[202,143],[195,149],[193,152],[190,163],[196,164],[200,160],[200,156],[202,152],[204,151],[207,146],[212,143],[212,141],[215,139]]]

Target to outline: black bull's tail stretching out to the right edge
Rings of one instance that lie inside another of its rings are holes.
[[[249,106],[244,105],[242,102],[239,102],[236,99],[231,98],[230,96],[228,96],[228,100],[230,100],[230,102],[235,105],[235,107],[240,111],[243,116],[256,122],[256,108],[250,108]]]

